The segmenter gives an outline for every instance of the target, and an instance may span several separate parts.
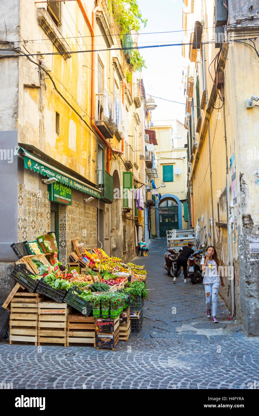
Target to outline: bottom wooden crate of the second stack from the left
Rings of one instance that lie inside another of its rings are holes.
[[[64,344],[66,347],[67,315],[38,314],[38,345]]]

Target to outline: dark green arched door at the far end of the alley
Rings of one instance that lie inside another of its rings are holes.
[[[166,198],[159,203],[159,235],[166,237],[167,230],[178,228],[178,203],[174,198]]]

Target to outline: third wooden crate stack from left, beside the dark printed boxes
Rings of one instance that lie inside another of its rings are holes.
[[[93,316],[70,313],[67,317],[66,346],[88,344],[96,347],[96,323]]]

